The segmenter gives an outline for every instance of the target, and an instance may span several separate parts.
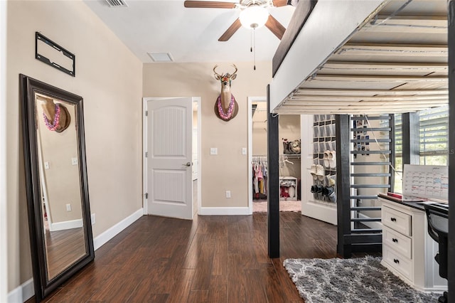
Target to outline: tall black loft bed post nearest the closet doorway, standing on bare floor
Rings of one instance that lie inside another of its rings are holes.
[[[279,134],[278,115],[270,113],[270,85],[267,85],[267,228],[269,257],[279,257]]]

